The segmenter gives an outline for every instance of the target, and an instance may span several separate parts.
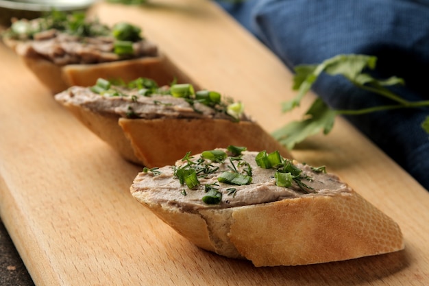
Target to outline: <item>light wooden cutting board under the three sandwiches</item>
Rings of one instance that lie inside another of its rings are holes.
[[[280,112],[293,97],[291,73],[215,3],[151,3],[98,3],[91,13],[140,25],[185,73],[241,100],[270,132],[297,117]],[[3,45],[0,58],[0,215],[36,285],[428,285],[428,191],[342,119],[293,156],[326,165],[395,219],[406,249],[257,268],[196,248],[140,206],[129,187],[141,168],[57,104]]]

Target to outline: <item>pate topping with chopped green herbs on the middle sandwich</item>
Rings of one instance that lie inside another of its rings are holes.
[[[130,119],[249,120],[241,103],[223,99],[215,91],[195,92],[191,84],[158,87],[156,82],[147,78],[138,78],[127,84],[99,79],[95,86],[72,86],[55,98],[64,104]]]

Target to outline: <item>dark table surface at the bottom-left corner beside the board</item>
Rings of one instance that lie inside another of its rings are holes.
[[[0,285],[34,286],[31,276],[0,219]]]

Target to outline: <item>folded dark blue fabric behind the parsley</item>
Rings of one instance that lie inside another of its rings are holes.
[[[341,53],[378,58],[376,78],[396,75],[395,93],[428,100],[429,1],[247,0],[219,4],[286,64],[318,64]],[[313,91],[333,108],[391,103],[323,75]],[[429,108],[389,110],[346,117],[429,190],[429,136],[420,124]],[[335,128],[335,127],[334,127]]]

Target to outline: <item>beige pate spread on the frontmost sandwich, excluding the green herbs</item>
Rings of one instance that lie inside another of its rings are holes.
[[[175,167],[165,166],[153,170],[146,169],[134,179],[132,193],[144,193],[146,202],[167,204],[181,208],[186,212],[193,212],[201,208],[230,208],[275,202],[286,198],[330,195],[351,191],[350,187],[341,182],[338,177],[326,174],[310,167],[310,165],[302,165],[292,161],[289,161],[289,163],[302,170],[299,176],[301,187],[297,180],[294,180],[289,187],[280,187],[276,184],[275,169],[259,167],[255,160],[256,154],[258,152],[243,152],[241,156],[234,157],[235,159],[233,160],[228,157],[222,163],[204,160],[205,163],[203,164],[208,164],[209,169],[214,171],[209,171],[208,174],[199,176],[199,184],[193,189],[189,189],[186,184],[181,184],[180,180],[175,176],[177,168],[180,168],[181,164],[186,165],[186,163],[178,161]],[[199,156],[193,157],[194,163],[198,161]],[[219,169],[217,169],[218,167]],[[219,176],[225,171],[248,174],[249,169],[252,173],[252,181],[249,184],[236,185],[219,182],[218,180]],[[219,203],[207,204],[204,202],[203,198],[207,195],[208,190],[206,186],[214,187],[221,193]]]

